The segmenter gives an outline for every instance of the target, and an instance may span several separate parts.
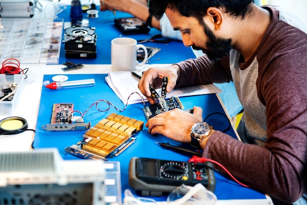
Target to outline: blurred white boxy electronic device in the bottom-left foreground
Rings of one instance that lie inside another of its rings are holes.
[[[104,163],[63,160],[57,149],[0,153],[0,204],[107,205]]]

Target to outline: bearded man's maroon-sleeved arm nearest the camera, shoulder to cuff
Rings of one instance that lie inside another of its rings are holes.
[[[277,26],[274,29],[281,30]],[[284,33],[276,32],[272,39],[288,35],[281,34]],[[241,182],[286,203],[293,203],[307,191],[307,66],[301,57],[307,55],[307,42],[301,37],[306,34],[297,34],[297,39],[294,35],[287,43],[283,39],[277,41],[282,42],[279,46],[267,43],[262,47],[274,53],[273,57],[268,57],[266,51],[257,55],[262,59],[256,85],[257,96],[265,105],[264,146],[242,143],[220,131],[215,131],[203,145],[204,157],[221,163]],[[256,127],[250,120],[252,112],[255,116],[258,111],[244,107],[241,125],[245,126],[239,128],[241,136],[248,133],[250,142],[260,137],[255,129],[251,130]]]

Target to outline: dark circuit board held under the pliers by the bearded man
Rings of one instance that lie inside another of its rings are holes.
[[[146,119],[149,120],[149,119],[153,118],[154,116],[156,116],[156,115],[158,115],[162,112],[172,110],[172,109],[175,109],[175,108],[179,108],[179,109],[182,109],[182,110],[184,109],[184,106],[183,106],[183,104],[181,103],[181,101],[179,100],[178,97],[172,96],[171,98],[166,99],[165,103],[166,103],[166,110],[162,108],[160,103],[155,103],[155,104],[151,104],[147,107],[144,107],[143,112],[145,114]]]

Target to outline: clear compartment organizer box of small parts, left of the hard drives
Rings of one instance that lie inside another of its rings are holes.
[[[62,32],[63,19],[1,18],[0,61],[58,64]]]

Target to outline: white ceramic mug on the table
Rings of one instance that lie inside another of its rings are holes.
[[[139,63],[136,60],[136,51],[144,49],[145,58]],[[137,44],[133,38],[120,37],[111,41],[111,70],[135,71],[136,66],[142,66],[148,59],[147,49],[142,44]]]

